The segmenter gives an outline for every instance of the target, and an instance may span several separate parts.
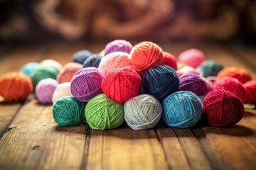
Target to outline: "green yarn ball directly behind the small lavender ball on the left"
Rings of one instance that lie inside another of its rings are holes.
[[[31,74],[31,79],[33,82],[33,88],[36,88],[36,85],[42,79],[56,79],[58,75],[58,69],[53,66],[40,65],[35,71]]]

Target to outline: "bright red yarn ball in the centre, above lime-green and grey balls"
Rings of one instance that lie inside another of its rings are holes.
[[[130,68],[112,69],[102,81],[102,91],[119,103],[137,96],[141,86],[141,77]]]

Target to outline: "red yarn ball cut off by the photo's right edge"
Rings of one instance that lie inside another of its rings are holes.
[[[256,81],[250,80],[243,84],[245,88],[245,103],[256,104]]]

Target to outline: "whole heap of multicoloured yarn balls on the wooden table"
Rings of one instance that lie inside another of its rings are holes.
[[[256,81],[246,69],[224,68],[198,49],[176,58],[148,41],[114,40],[100,54],[75,52],[64,67],[55,60],[31,62],[0,78],[5,101],[26,101],[32,91],[40,103],[53,103],[58,125],[87,123],[95,130],[124,122],[144,130],[161,119],[174,128],[200,120],[230,127],[242,119],[245,103],[256,104]]]

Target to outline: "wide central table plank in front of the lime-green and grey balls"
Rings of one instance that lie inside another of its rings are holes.
[[[92,130],[85,169],[168,169],[154,130]]]

